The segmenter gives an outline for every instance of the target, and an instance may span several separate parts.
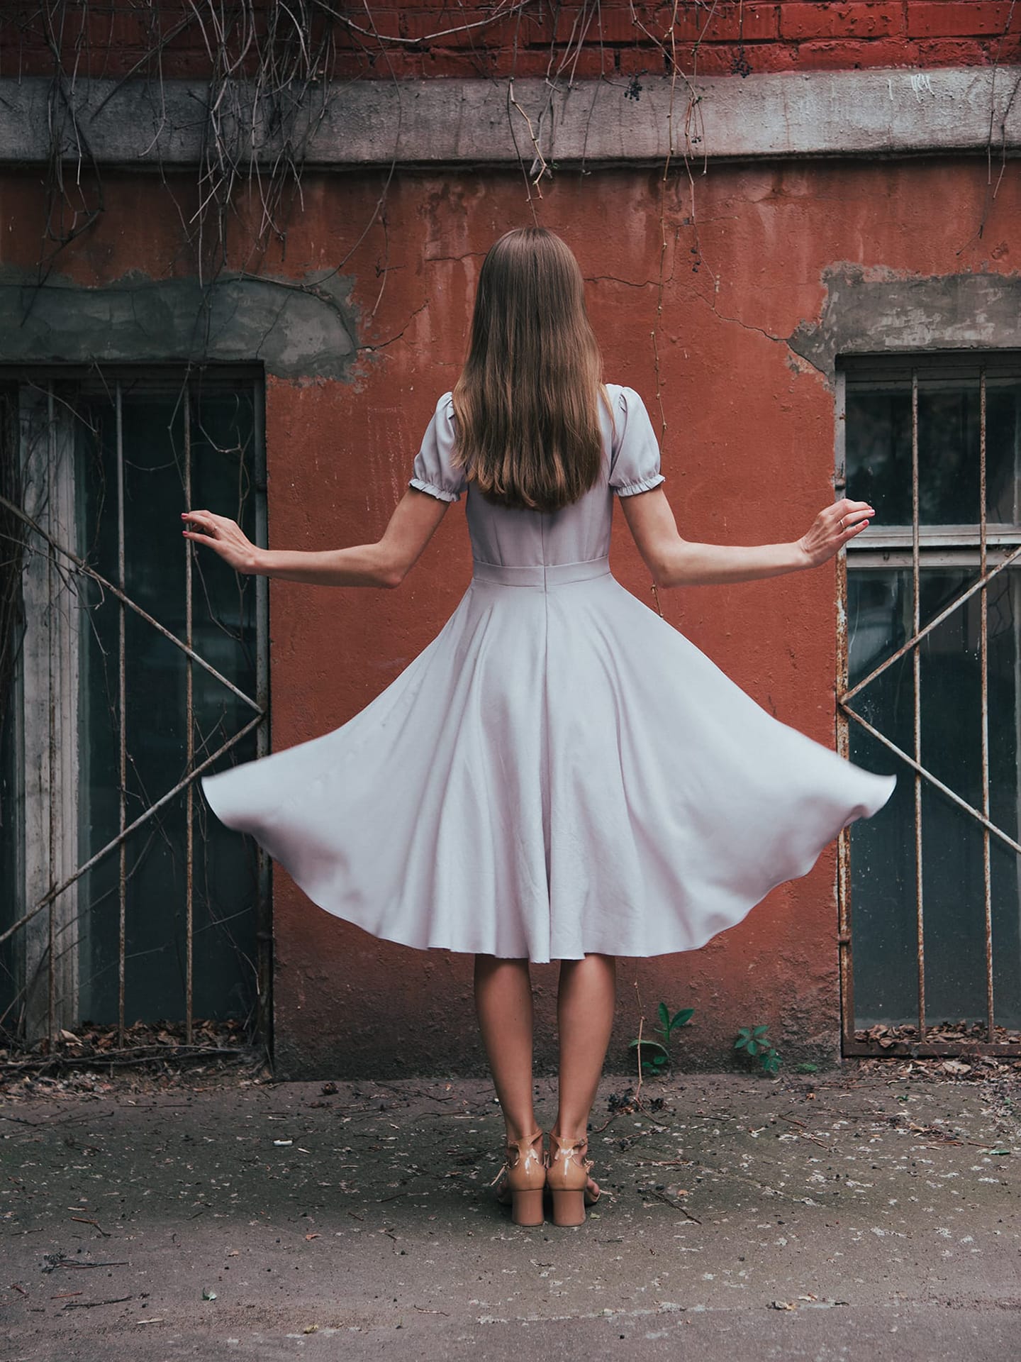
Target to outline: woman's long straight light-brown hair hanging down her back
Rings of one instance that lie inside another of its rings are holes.
[[[455,456],[468,481],[487,500],[521,509],[577,501],[602,464],[600,379],[570,249],[545,227],[508,232],[482,264],[453,390]]]

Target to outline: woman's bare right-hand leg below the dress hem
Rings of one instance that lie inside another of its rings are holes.
[[[560,1026],[560,1109],[553,1133],[584,1140],[588,1115],[603,1072],[617,1002],[617,960],[587,955],[561,960],[557,1022]]]

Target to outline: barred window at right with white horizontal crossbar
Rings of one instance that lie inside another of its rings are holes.
[[[847,552],[844,740],[900,774],[841,849],[845,1039],[1016,1043],[1021,362],[862,358],[837,399],[877,512]]]

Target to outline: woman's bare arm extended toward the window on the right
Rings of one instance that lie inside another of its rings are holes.
[[[682,539],[662,488],[621,497],[628,527],[658,587],[757,582],[802,568],[817,568],[875,513],[867,501],[834,501],[791,543],[723,545]]]

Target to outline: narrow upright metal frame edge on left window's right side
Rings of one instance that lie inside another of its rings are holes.
[[[265,410],[260,380],[252,381],[252,439],[255,441],[255,538],[265,548],[268,538],[267,469],[265,469]],[[256,699],[263,714],[270,712],[270,579],[257,575],[256,592]],[[270,725],[256,730],[256,756],[270,752]],[[272,1054],[272,868],[270,854],[256,843],[257,902],[256,902],[256,1027]]]

